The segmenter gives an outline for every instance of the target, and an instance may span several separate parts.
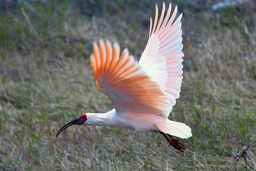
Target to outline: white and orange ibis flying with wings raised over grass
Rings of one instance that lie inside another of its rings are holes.
[[[154,24],[150,17],[149,37],[139,61],[125,48],[120,55],[117,42],[93,42],[90,55],[96,87],[111,100],[114,109],[106,113],[83,113],[62,126],[56,137],[71,125],[115,126],[137,131],[155,131],[167,142],[184,153],[185,146],[174,139],[192,136],[190,126],[168,119],[180,97],[182,82],[182,13],[174,20],[177,5],[170,15],[163,2],[155,5]],[[168,135],[168,136],[167,136]]]

